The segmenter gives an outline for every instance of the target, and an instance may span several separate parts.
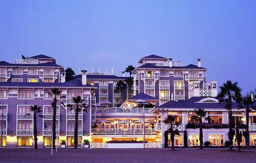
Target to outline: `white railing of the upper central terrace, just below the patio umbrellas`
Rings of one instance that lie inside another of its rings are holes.
[[[145,114],[153,113],[153,108],[145,108]],[[141,113],[143,108],[97,108],[96,113]]]

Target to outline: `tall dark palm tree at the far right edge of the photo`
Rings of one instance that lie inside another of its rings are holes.
[[[246,136],[245,136],[245,144],[246,148],[249,148],[249,112],[252,111],[252,104],[253,104],[253,99],[251,97],[250,93],[247,93],[246,96],[242,97],[241,104],[239,105],[239,108],[246,108]],[[254,109],[256,110],[256,108]]]

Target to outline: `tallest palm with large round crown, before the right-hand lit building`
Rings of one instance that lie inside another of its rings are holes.
[[[236,103],[241,102],[241,89],[237,86],[237,82],[232,83],[230,80],[227,83],[224,83],[223,86],[220,87],[221,91],[218,93],[217,98],[220,103],[225,103],[225,109],[228,110],[228,126],[229,126],[229,150],[232,150],[233,147],[233,137],[234,137],[234,123],[232,120],[232,101]]]

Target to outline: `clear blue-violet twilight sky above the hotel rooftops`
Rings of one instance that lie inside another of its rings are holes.
[[[46,54],[120,75],[156,54],[256,87],[256,1],[0,1],[0,60]]]

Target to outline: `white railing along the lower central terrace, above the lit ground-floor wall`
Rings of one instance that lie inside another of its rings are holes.
[[[142,135],[143,129],[141,128],[127,128],[127,129],[101,128],[101,129],[92,129],[92,133],[95,135]],[[155,131],[154,129],[145,129],[145,134],[156,135],[157,131]]]

